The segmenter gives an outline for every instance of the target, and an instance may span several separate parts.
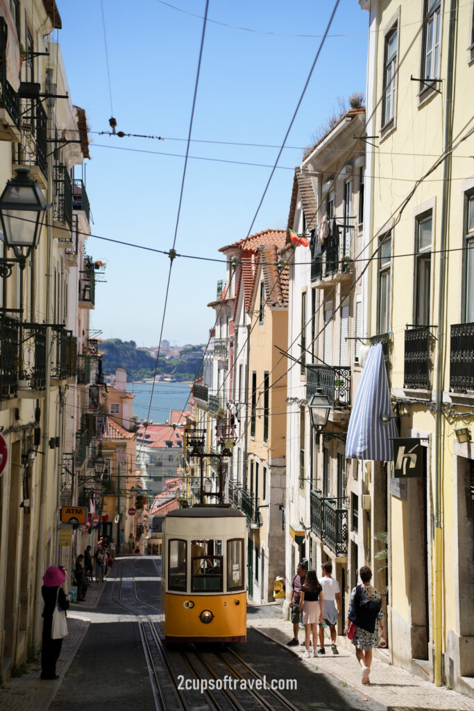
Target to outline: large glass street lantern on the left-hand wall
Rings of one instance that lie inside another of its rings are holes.
[[[14,261],[22,269],[26,257],[38,244],[45,210],[49,207],[38,183],[30,178],[28,168],[17,168],[16,178],[6,183],[0,197],[0,222],[6,245],[12,247],[17,257]]]

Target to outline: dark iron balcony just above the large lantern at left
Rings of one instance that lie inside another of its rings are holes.
[[[47,187],[48,117],[38,99],[21,99],[21,138],[15,149],[14,168],[26,167],[32,178]]]

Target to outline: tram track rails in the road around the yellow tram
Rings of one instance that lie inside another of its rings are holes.
[[[155,560],[153,565],[161,573]],[[269,682],[265,685],[266,678],[232,648],[203,651],[190,645],[167,649],[153,619],[161,611],[140,599],[133,561],[127,576],[131,579],[124,577],[122,564],[118,591],[114,584],[112,599],[136,616],[157,711],[298,711]],[[225,678],[230,680],[227,685]],[[183,680],[188,684],[185,688]]]

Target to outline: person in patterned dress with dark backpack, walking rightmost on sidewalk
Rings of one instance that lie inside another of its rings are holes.
[[[382,611],[382,596],[370,584],[372,570],[367,565],[362,565],[359,575],[362,585],[352,588],[345,633],[349,638],[353,634],[352,644],[355,646],[355,656],[362,668],[362,684],[368,684],[372,665],[372,649],[379,643],[379,632],[385,638],[384,613]],[[351,624],[352,629],[350,629]],[[355,632],[353,631],[354,625],[356,626]]]

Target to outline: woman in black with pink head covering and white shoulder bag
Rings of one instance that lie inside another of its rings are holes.
[[[60,609],[67,610],[69,600],[65,596],[63,587],[66,579],[66,572],[62,567],[50,565],[43,575],[43,587],[41,594],[45,601],[43,610],[43,642],[41,646],[41,679],[58,679],[56,674],[56,662],[58,661],[62,639],[51,639],[51,626],[53,624],[53,612],[58,597]],[[59,591],[59,592],[58,592]]]

